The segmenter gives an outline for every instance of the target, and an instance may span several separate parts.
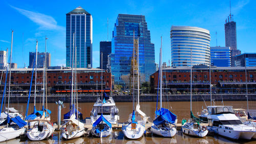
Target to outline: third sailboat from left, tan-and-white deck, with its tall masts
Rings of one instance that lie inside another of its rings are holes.
[[[82,114],[78,111],[78,99],[75,97],[77,96],[77,89],[76,89],[76,74],[74,80],[74,37],[75,33],[73,33],[73,58],[72,58],[72,81],[71,81],[71,103],[70,103],[70,110],[68,113],[64,115],[63,121],[65,123],[61,126],[61,135],[65,139],[73,139],[80,137],[84,134],[84,125],[80,121],[82,120]],[[75,48],[75,68],[76,68],[76,48]],[[75,81],[75,91],[74,91],[74,81]],[[75,94],[75,96],[73,95]],[[77,101],[76,107],[75,102]]]

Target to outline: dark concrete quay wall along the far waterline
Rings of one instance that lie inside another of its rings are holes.
[[[99,97],[99,96],[98,96]],[[164,99],[168,101],[190,101],[190,95],[163,95]],[[212,95],[212,99],[215,99],[216,101],[246,101],[246,95],[245,94],[214,94]],[[48,96],[47,97],[48,102],[52,103],[55,101],[63,101],[63,102],[69,102],[70,95],[54,95],[54,96]],[[78,96],[79,102],[95,102],[97,99],[97,96],[93,95],[79,95]],[[131,95],[113,95],[113,99],[115,102],[132,102],[132,96]],[[159,100],[160,98],[158,98]],[[256,101],[256,94],[249,94],[248,99],[250,101]],[[41,96],[36,97],[36,102],[41,102]],[[193,95],[192,96],[193,101],[210,101],[210,95]],[[28,96],[11,96],[10,101],[12,103],[27,103],[28,102]],[[157,95],[141,95],[140,96],[140,102],[152,102],[157,101]],[[30,97],[30,103],[34,102],[34,97]]]

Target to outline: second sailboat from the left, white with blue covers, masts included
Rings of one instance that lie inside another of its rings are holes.
[[[46,38],[47,40],[47,38]],[[35,66],[37,67],[37,45],[38,43],[36,42],[36,63]],[[46,57],[46,56],[45,56]],[[55,128],[53,127],[52,123],[50,122],[50,111],[48,110],[47,107],[47,63],[46,60],[44,62],[44,76],[43,76],[43,97],[44,94],[46,95],[46,110],[44,108],[45,102],[43,101],[43,107],[42,107],[42,114],[40,114],[39,111],[36,111],[35,109],[35,98],[34,98],[34,112],[30,115],[30,118],[28,120],[28,129],[27,129],[27,136],[30,140],[43,140],[49,138]],[[35,72],[35,77],[36,77],[36,72]],[[32,77],[33,78],[33,77]],[[36,96],[36,78],[35,78],[35,91],[34,91],[34,96]],[[37,114],[37,115],[36,115]],[[33,117],[35,119],[33,119]]]

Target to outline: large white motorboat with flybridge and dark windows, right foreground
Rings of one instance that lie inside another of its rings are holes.
[[[234,114],[232,106],[208,106],[208,131],[231,139],[251,139],[256,132]]]

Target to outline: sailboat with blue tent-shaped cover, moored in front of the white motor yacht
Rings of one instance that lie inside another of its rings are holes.
[[[102,64],[102,53],[101,53],[101,64]],[[92,133],[94,136],[97,137],[106,137],[111,135],[112,133],[112,125],[111,123],[105,119],[103,116],[103,103],[106,102],[105,99],[103,99],[103,77],[102,77],[102,65],[101,65],[101,100],[98,101],[98,103],[101,103],[101,109],[99,108],[98,113],[101,112],[100,117],[93,123]],[[106,94],[104,93],[104,97],[106,97]]]

